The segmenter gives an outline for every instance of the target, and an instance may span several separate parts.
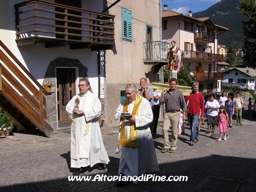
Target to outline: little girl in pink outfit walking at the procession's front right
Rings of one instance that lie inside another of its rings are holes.
[[[218,141],[221,141],[221,135],[224,133],[224,140],[227,139],[226,131],[227,131],[227,122],[228,122],[228,115],[226,113],[225,106],[220,107],[220,111],[218,113],[218,125],[220,126],[220,138]],[[217,125],[217,127],[218,127]]]

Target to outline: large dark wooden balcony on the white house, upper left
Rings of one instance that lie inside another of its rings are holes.
[[[45,43],[45,47],[112,49],[114,15],[51,3],[27,0],[15,5],[17,46]]]

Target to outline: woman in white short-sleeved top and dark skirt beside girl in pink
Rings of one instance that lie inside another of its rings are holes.
[[[218,109],[220,105],[217,100],[214,99],[214,95],[209,95],[209,100],[205,104],[205,109],[207,109],[207,126],[208,131],[206,133],[210,133],[210,126],[212,125],[212,133],[214,133],[215,125],[218,125]]]

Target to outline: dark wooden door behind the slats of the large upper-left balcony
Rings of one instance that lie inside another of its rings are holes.
[[[81,0],[55,0],[55,3],[59,3],[59,4],[62,4],[62,5],[67,5],[67,6],[73,6],[73,7],[81,8]],[[55,7],[55,11],[57,11],[57,12],[64,12],[64,9],[63,8]],[[81,15],[81,12],[74,11],[74,10],[68,10],[67,13],[73,14],[73,15]],[[55,17],[59,18],[59,19],[64,19],[65,16],[61,15],[61,14],[56,14]],[[67,20],[81,22],[81,18],[73,17],[73,16],[68,16]],[[65,24],[64,21],[58,21],[58,20],[56,20],[55,23],[56,23],[56,25],[62,25],[62,26],[64,26],[64,24]],[[67,26],[81,28],[81,24],[78,24],[78,23],[71,23],[71,22],[69,22],[67,24]],[[56,27],[56,31],[57,32],[64,32],[64,28]],[[81,30],[78,30],[78,29],[68,29],[67,31],[68,31],[68,33],[81,34]],[[65,35],[56,34],[56,38],[64,38],[64,36]],[[81,40],[81,37],[73,36],[73,35],[68,35],[68,39]]]

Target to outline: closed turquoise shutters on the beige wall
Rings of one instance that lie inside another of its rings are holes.
[[[132,41],[132,12],[122,8],[122,39]]]

